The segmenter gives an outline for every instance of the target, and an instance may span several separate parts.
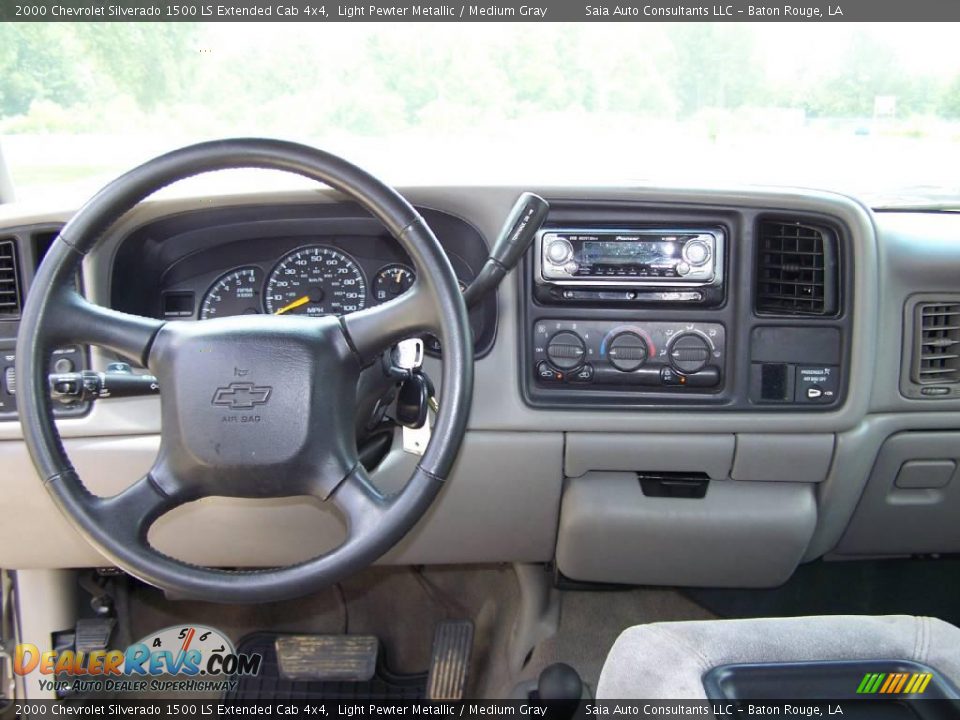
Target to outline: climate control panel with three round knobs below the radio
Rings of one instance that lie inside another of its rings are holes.
[[[533,374],[544,386],[719,392],[724,327],[701,322],[538,320]]]

